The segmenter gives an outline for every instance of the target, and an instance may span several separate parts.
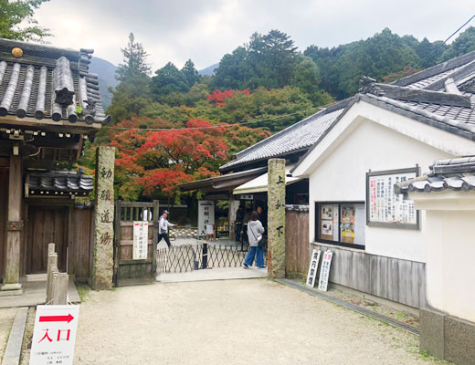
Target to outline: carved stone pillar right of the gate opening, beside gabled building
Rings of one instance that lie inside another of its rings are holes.
[[[268,272],[280,278],[285,277],[285,160],[270,159],[268,164]]]

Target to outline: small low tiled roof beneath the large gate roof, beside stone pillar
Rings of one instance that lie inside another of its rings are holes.
[[[92,191],[92,176],[79,172],[28,172],[27,196],[87,195]]]

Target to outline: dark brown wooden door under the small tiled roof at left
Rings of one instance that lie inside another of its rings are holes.
[[[47,272],[47,244],[54,243],[58,254],[58,269],[66,272],[68,246],[68,207],[28,207],[26,274]]]

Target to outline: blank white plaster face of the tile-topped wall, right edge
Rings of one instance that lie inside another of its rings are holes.
[[[475,206],[427,211],[427,300],[432,308],[475,322]]]

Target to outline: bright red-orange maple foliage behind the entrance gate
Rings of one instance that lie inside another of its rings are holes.
[[[180,183],[218,174],[212,170],[227,159],[226,129],[205,120],[189,120],[186,128],[117,134],[111,145],[119,151],[115,164],[121,192],[140,185],[145,195],[159,188],[172,196]]]

